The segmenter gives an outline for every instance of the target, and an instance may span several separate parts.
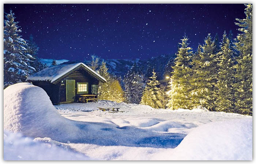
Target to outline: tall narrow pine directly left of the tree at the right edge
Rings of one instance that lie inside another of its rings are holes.
[[[217,99],[215,102],[216,111],[234,112],[234,56],[230,47],[229,38],[226,33],[223,34],[221,52],[217,54],[218,58],[218,75],[217,85],[215,87],[217,92]]]

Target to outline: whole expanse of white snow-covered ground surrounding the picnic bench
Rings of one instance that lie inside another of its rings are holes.
[[[252,160],[251,116],[106,100],[53,106],[29,83],[4,90],[4,130],[5,160]]]

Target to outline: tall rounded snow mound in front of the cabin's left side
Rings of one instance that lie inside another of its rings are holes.
[[[63,142],[63,136],[76,138],[79,131],[74,121],[59,114],[44,89],[30,83],[4,89],[4,130]]]

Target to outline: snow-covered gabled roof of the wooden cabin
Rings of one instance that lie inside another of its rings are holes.
[[[27,77],[26,81],[50,81],[51,83],[55,84],[81,67],[102,83],[107,82],[104,77],[99,75],[97,72],[82,62],[75,64],[60,64],[49,66],[35,73],[34,75]]]

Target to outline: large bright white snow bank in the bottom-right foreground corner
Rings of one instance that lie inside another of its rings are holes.
[[[193,129],[161,160],[252,160],[252,118],[211,122]]]

